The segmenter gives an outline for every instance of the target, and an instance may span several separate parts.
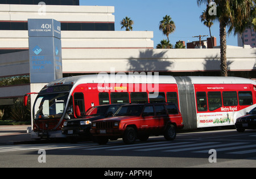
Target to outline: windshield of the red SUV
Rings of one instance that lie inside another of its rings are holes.
[[[114,116],[140,116],[144,105],[126,105],[117,110]]]

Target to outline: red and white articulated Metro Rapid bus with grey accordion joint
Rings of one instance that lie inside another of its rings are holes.
[[[64,138],[63,122],[81,117],[94,105],[163,102],[179,107],[183,130],[232,126],[256,106],[256,82],[237,77],[115,74],[57,79],[35,99],[31,138]]]

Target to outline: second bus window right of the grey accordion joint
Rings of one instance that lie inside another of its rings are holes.
[[[221,92],[208,92],[209,110],[215,110],[222,106]]]

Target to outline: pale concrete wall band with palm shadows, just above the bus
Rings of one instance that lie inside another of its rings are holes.
[[[227,63],[229,70],[256,70],[256,50],[228,49]],[[111,68],[117,72],[220,70],[220,49],[63,49],[63,73]]]

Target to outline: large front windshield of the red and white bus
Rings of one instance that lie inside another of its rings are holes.
[[[67,92],[38,95],[34,105],[34,119],[60,118],[68,100]]]

